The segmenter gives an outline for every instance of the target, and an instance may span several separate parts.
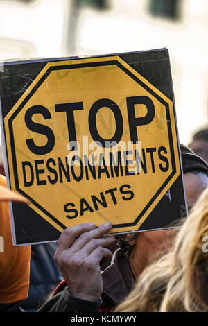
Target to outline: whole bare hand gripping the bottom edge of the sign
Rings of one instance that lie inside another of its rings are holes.
[[[114,237],[103,235],[111,227],[109,222],[98,228],[94,223],[83,223],[65,229],[60,235],[55,262],[76,298],[95,301],[101,296],[103,283],[99,263],[103,257],[112,257],[112,252],[103,246],[114,241]]]

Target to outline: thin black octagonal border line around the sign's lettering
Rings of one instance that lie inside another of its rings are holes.
[[[42,207],[41,205],[36,203],[35,200],[33,200],[33,198],[28,196],[28,194],[25,194],[24,191],[22,191],[19,188],[19,180],[18,180],[18,174],[17,174],[17,160],[16,160],[16,154],[15,154],[15,139],[14,139],[14,134],[13,134],[12,122],[14,121],[15,117],[17,117],[17,114],[19,113],[19,111],[27,103],[29,98],[31,98],[31,96],[33,96],[33,94],[35,94],[38,87],[40,87],[40,85],[42,85],[43,81],[49,76],[49,74],[51,74],[51,71],[63,70],[63,69],[78,69],[78,68],[87,68],[87,67],[98,67],[98,66],[107,66],[107,65],[108,66],[117,65],[121,70],[123,70],[125,72],[125,74],[128,74],[128,76],[130,76],[130,78],[134,79],[139,85],[141,85],[141,87],[144,87],[144,89],[146,89],[150,94],[152,94],[155,98],[157,98],[157,100],[159,102],[161,102],[165,106],[165,108],[166,108],[166,121],[168,123],[169,144],[170,144],[170,148],[171,148],[171,163],[172,163],[172,172],[171,172],[171,174],[168,176],[168,178],[163,183],[163,185],[157,190],[157,192],[153,196],[153,198],[148,202],[148,205],[146,205],[146,207],[139,214],[139,216],[137,216],[135,221],[133,223],[114,224],[114,225],[112,225],[112,228],[123,228],[124,226],[126,227],[126,226],[134,226],[134,225],[136,225],[137,222],[139,221],[139,219],[145,214],[145,212],[150,207],[150,205],[152,205],[154,200],[157,198],[157,196],[159,196],[161,191],[164,189],[164,187],[166,187],[168,182],[171,180],[171,178],[173,178],[173,175],[175,175],[175,173],[176,173],[169,105],[168,105],[168,103],[166,103],[166,101],[164,101],[163,98],[161,98],[158,94],[156,94],[153,91],[153,89],[150,89],[150,87],[148,87],[146,84],[144,84],[141,80],[139,80],[139,78],[137,78],[137,76],[132,74],[132,72],[130,72],[126,67],[124,67],[121,64],[121,62],[118,62],[117,60],[111,60],[111,61],[101,61],[101,62],[85,62],[85,63],[80,63],[80,64],[73,64],[72,63],[71,65],[61,65],[61,66],[49,67],[49,69],[45,72],[44,76],[42,76],[42,78],[40,78],[38,83],[36,85],[34,85],[31,92],[26,96],[26,98],[24,99],[24,101],[22,101],[22,103],[19,105],[17,110],[15,110],[15,112],[12,114],[12,116],[8,119],[8,127],[9,127],[9,132],[10,132],[10,143],[11,143],[11,149],[12,149],[13,168],[14,168],[14,172],[15,172],[14,173],[14,175],[15,175],[15,187],[16,187],[17,191],[19,191],[19,193],[22,194],[23,196],[25,196],[26,198],[29,198],[31,200],[31,202],[33,203],[33,205],[35,205],[37,208],[42,210],[42,212],[44,212],[44,214],[49,216],[49,218],[51,218],[55,223],[60,225],[60,227],[62,227],[63,229],[66,228],[65,225],[63,225],[60,221],[58,221],[57,218],[55,218],[53,215],[51,215],[49,212],[47,212],[46,209],[44,209],[44,207]]]

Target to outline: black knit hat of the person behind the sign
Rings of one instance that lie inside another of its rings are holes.
[[[208,176],[208,164],[202,157],[194,154],[190,148],[182,144],[180,144],[180,151],[184,173],[198,171]]]

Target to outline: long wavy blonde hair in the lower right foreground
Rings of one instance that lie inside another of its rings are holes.
[[[132,292],[114,311],[208,311],[205,236],[208,236],[208,189],[179,228],[171,250],[145,268]]]

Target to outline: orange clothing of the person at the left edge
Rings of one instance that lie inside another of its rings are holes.
[[[8,203],[1,198],[0,220],[4,239],[0,253],[0,311],[21,311],[19,304],[28,297],[31,246],[13,246]]]

